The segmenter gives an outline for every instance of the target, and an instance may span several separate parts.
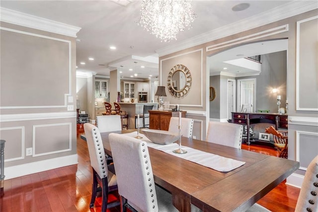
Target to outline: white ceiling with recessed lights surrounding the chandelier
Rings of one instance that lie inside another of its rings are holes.
[[[243,11],[232,10],[242,2],[249,3],[250,7]],[[246,30],[255,24],[285,18],[291,11],[291,15],[295,15],[297,9],[301,13],[318,7],[316,0],[193,0],[198,18],[192,23],[192,28],[177,34],[177,40],[161,42],[137,25],[140,3],[137,0],[1,0],[1,7],[81,27],[77,34],[80,40],[77,42],[78,74],[109,76],[110,70],[118,68],[123,77],[130,77],[137,68],[138,78],[158,76],[158,56],[164,53],[204,43],[221,34]],[[110,50],[111,45],[117,49]],[[267,52],[276,51],[268,50],[269,43],[265,46]],[[246,56],[259,54],[247,53],[246,48],[236,50]],[[211,60],[217,64],[224,61],[225,56],[229,54],[223,52]],[[94,60],[89,61],[88,57]],[[80,62],[86,64],[80,65]],[[137,65],[134,62],[138,62]],[[145,68],[141,68],[142,65]],[[128,71],[129,68],[134,71]],[[219,69],[211,72],[219,72]]]

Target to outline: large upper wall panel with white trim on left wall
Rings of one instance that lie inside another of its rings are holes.
[[[0,89],[5,91],[0,108],[66,107],[71,96],[71,41],[5,27],[0,31]],[[37,63],[30,62],[34,60]]]

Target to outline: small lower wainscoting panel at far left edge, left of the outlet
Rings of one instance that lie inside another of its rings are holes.
[[[24,126],[0,128],[0,139],[5,140],[4,162],[24,158]]]

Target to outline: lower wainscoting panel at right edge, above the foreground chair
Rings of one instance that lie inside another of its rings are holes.
[[[306,154],[300,154],[306,152]],[[296,130],[296,161],[299,161],[301,170],[307,170],[310,162],[318,154],[318,133]]]

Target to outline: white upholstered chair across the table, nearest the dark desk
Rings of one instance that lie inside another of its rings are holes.
[[[240,124],[210,121],[206,141],[240,149],[242,135]]]

